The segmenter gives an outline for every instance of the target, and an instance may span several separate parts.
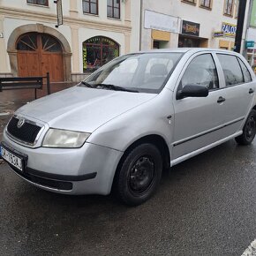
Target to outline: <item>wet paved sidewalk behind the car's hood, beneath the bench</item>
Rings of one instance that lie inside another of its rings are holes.
[[[51,94],[74,86],[75,83],[51,83]],[[43,90],[37,90],[37,98],[47,95],[46,87]],[[10,90],[0,93],[0,141],[5,125],[8,123],[11,115],[16,109],[26,104],[26,102],[34,101],[34,89]]]

